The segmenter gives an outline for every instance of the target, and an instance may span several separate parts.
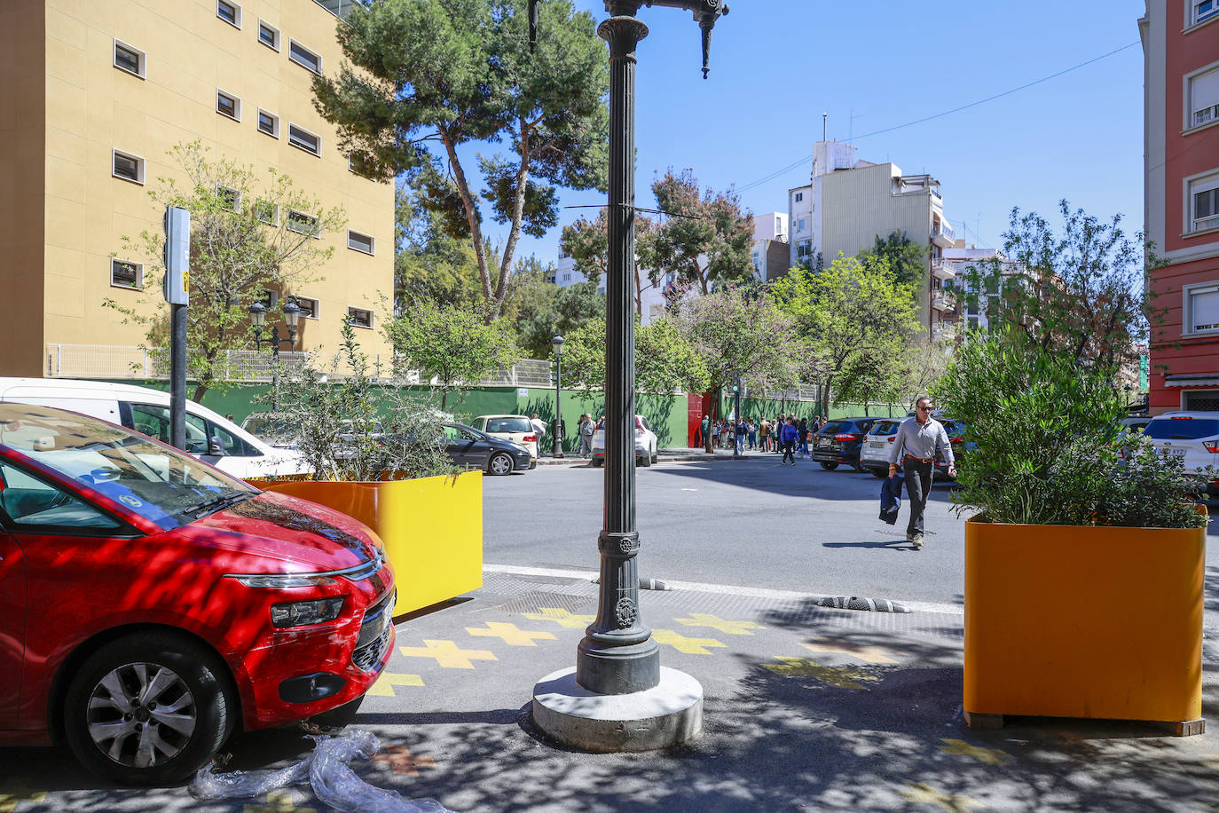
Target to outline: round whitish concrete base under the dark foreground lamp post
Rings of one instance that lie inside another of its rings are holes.
[[[656,751],[702,730],[702,686],[661,667],[661,683],[629,695],[601,695],[575,683],[575,667],[560,669],[534,686],[533,718],[563,745],[599,753]]]

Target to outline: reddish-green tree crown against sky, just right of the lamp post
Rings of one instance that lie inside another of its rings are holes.
[[[639,261],[653,284],[673,274],[678,289],[709,294],[753,278],[753,215],[734,189],[700,190],[692,172],[669,168],[652,182],[652,193],[661,211],[674,216],[639,239]]]

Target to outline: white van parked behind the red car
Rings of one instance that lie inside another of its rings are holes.
[[[169,442],[169,394],[146,386],[67,378],[0,378],[0,401],[71,410]],[[272,449],[190,400],[187,451],[239,478],[307,473],[297,453]]]

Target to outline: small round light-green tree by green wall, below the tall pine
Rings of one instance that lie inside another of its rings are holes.
[[[384,333],[396,367],[435,379],[441,408],[460,385],[512,367],[519,358],[507,325],[502,319],[486,324],[482,308],[419,299],[385,323]]]

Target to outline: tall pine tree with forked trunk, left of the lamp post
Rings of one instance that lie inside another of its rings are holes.
[[[318,111],[360,172],[405,172],[450,236],[472,241],[488,319],[507,296],[522,230],[540,236],[557,222],[555,186],[606,185],[608,68],[594,18],[542,0],[531,54],[525,16],[524,0],[356,5],[338,26],[347,62],[313,80]],[[511,146],[479,155],[482,186],[460,152],[474,141]],[[480,201],[510,224],[495,271]]]

